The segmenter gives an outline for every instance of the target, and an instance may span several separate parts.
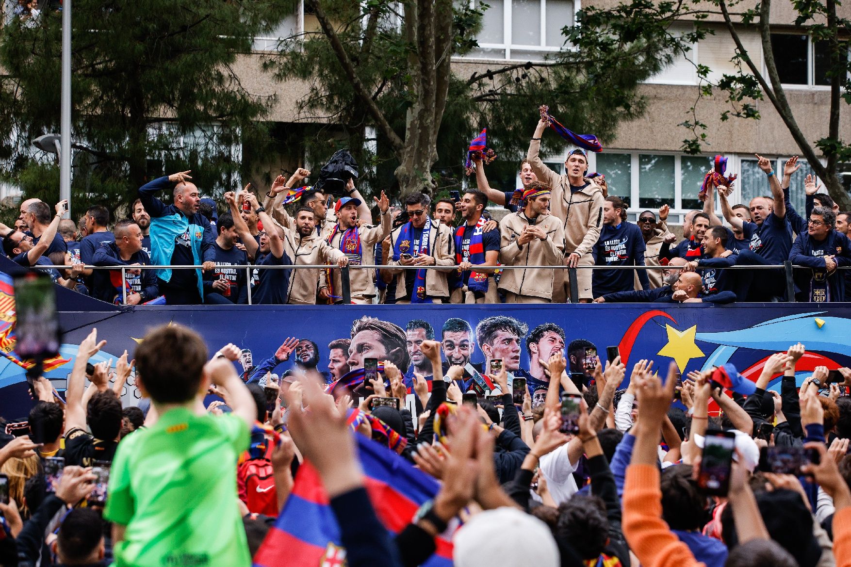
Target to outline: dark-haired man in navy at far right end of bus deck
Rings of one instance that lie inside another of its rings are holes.
[[[807,221],[807,232],[802,232],[792,244],[789,259],[796,266],[792,272],[795,280],[796,301],[844,301],[845,278],[837,266],[851,265],[851,241],[837,230],[837,215],[827,207],[814,207]]]

